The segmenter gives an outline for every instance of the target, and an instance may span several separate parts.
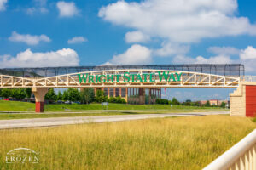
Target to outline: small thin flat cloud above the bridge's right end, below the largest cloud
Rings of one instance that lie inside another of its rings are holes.
[[[210,47],[207,51],[212,54],[227,54],[227,55],[237,55],[240,54],[240,49],[233,47]]]

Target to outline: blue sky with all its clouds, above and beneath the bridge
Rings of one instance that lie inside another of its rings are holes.
[[[252,0],[0,0],[0,67],[242,63],[255,75],[255,7]],[[180,99],[186,91],[197,99],[230,93],[175,89]]]

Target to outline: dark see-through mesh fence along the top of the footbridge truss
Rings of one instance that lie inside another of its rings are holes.
[[[0,69],[0,74],[16,77],[54,77],[69,73],[84,71],[106,71],[106,70],[126,70],[126,69],[157,69],[172,71],[193,71],[209,73],[215,75],[240,77],[244,76],[244,65],[100,65],[100,66],[67,66],[67,67],[38,67],[38,68],[4,68]]]

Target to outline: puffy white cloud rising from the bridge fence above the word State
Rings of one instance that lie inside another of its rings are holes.
[[[134,44],[124,54],[114,55],[113,59],[105,65],[140,65],[152,61],[151,50],[147,47]]]

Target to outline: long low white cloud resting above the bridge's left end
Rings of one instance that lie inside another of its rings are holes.
[[[48,67],[79,65],[78,54],[70,48],[46,53],[33,53],[31,49],[20,52],[15,57],[0,56],[0,67]]]

